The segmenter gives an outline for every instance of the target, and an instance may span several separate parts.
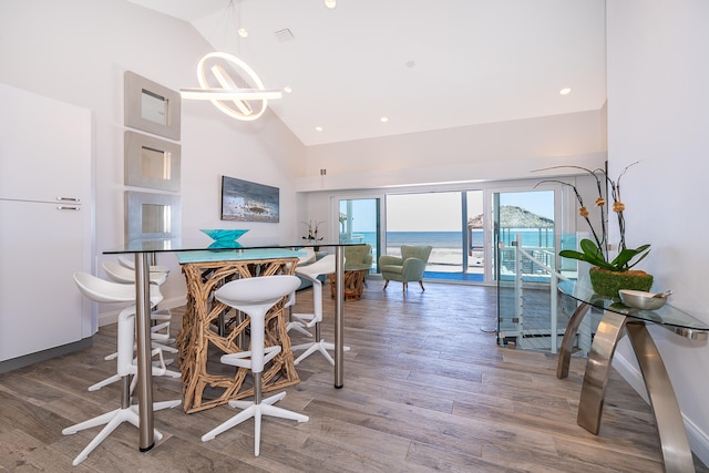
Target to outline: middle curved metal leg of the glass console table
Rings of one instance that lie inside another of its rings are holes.
[[[577,422],[578,425],[593,434],[598,434],[600,428],[610,360],[613,360],[618,340],[623,337],[626,320],[625,316],[606,311],[598,323],[598,330],[590,346],[584,384],[580,390]]]

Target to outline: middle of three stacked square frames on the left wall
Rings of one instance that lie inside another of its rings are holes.
[[[179,192],[179,144],[129,130],[123,150],[125,185]]]

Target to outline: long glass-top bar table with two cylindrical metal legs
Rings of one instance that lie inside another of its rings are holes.
[[[151,337],[150,337],[150,259],[156,253],[174,251],[243,251],[267,248],[294,249],[301,247],[333,247],[336,255],[336,298],[335,298],[335,388],[342,388],[343,376],[343,306],[345,306],[345,247],[358,246],[361,243],[340,243],[329,240],[276,239],[258,238],[246,235],[238,241],[218,247],[214,241],[204,238],[157,238],[132,240],[123,247],[106,249],[104,255],[135,255],[135,320],[137,331],[137,400],[140,411],[140,450],[146,452],[155,445],[153,422],[153,379],[151,376]]]

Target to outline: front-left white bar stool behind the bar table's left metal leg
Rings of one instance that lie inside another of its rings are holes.
[[[74,273],[74,281],[81,292],[91,300],[96,302],[135,302],[135,287],[131,285],[122,285],[119,282],[107,281],[90,275],[88,273]],[[156,305],[163,299],[157,286],[151,287],[151,305]],[[62,434],[70,435],[93,426],[104,425],[104,428],[93,438],[93,440],[79,453],[72,464],[76,466],[83,462],[86,456],[103,442],[120,424],[130,422],[136,428],[138,426],[138,410],[136,404],[131,403],[131,395],[134,388],[131,378],[137,374],[137,366],[133,354],[135,338],[135,305],[121,310],[117,325],[117,357],[116,357],[116,377],[123,380],[121,392],[121,407],[104,414],[85,420],[78,424],[68,426],[62,430]],[[158,354],[160,349],[153,350],[153,354]],[[171,372],[164,364],[162,367],[153,366],[153,376],[174,376],[179,373]],[[111,381],[112,382],[112,381]],[[154,402],[153,410],[169,409],[182,403],[181,400]],[[162,439],[162,434],[155,430],[154,436]]]

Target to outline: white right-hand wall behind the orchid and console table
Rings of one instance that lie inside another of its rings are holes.
[[[709,2],[607,2],[608,161],[623,178],[626,238],[649,243],[655,289],[709,323],[703,188],[709,175]],[[692,450],[709,464],[709,348],[665,330],[653,335],[672,379]],[[629,347],[616,363],[639,382]],[[612,395],[612,394],[610,394]]]

